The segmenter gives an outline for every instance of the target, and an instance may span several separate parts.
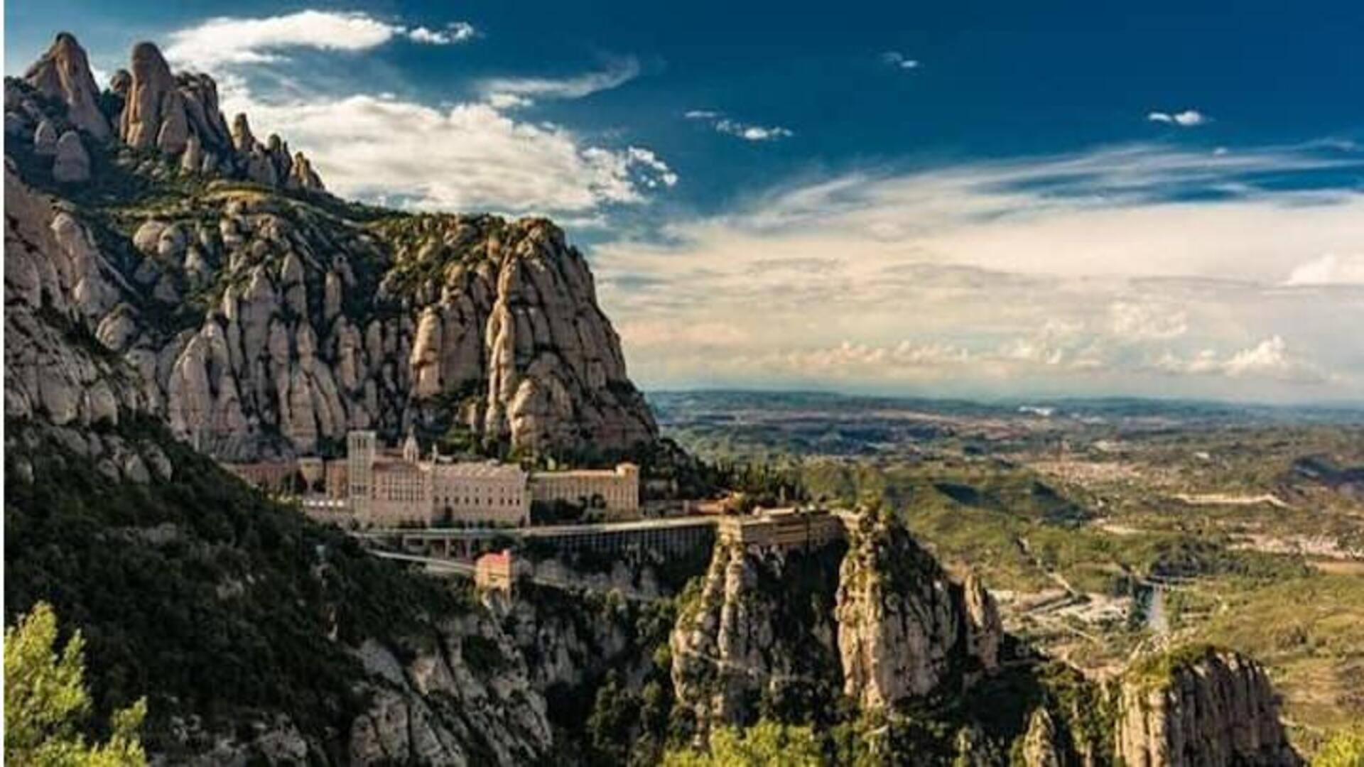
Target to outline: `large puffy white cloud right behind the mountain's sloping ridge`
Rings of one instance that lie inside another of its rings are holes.
[[[228,113],[258,134],[278,132],[307,151],[346,197],[417,209],[591,213],[636,205],[677,173],[642,147],[608,149],[548,123],[516,120],[481,102],[434,108],[381,96],[265,101],[224,90]]]

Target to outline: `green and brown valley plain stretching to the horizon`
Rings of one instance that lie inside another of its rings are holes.
[[[1311,751],[1364,718],[1364,414],[1078,400],[653,393],[664,434],[884,505],[1004,624],[1109,677],[1151,646],[1263,661]],[[1045,414],[1045,415],[1043,415]]]

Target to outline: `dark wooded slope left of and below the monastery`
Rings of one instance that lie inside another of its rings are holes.
[[[469,602],[265,500],[151,419],[106,429],[155,444],[169,480],[110,479],[70,434],[5,424],[7,622],[40,602],[79,626],[97,717],[147,696],[147,742],[173,749],[285,714],[344,732],[364,707],[346,647],[401,646]],[[331,744],[337,747],[337,744]]]

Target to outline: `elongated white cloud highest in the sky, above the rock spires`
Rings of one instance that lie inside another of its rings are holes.
[[[466,22],[442,30],[408,30],[363,12],[299,11],[280,16],[218,16],[170,34],[166,59],[180,67],[211,70],[224,64],[280,61],[291,48],[316,50],[368,50],[396,37],[415,42],[449,45],[475,35]]]

